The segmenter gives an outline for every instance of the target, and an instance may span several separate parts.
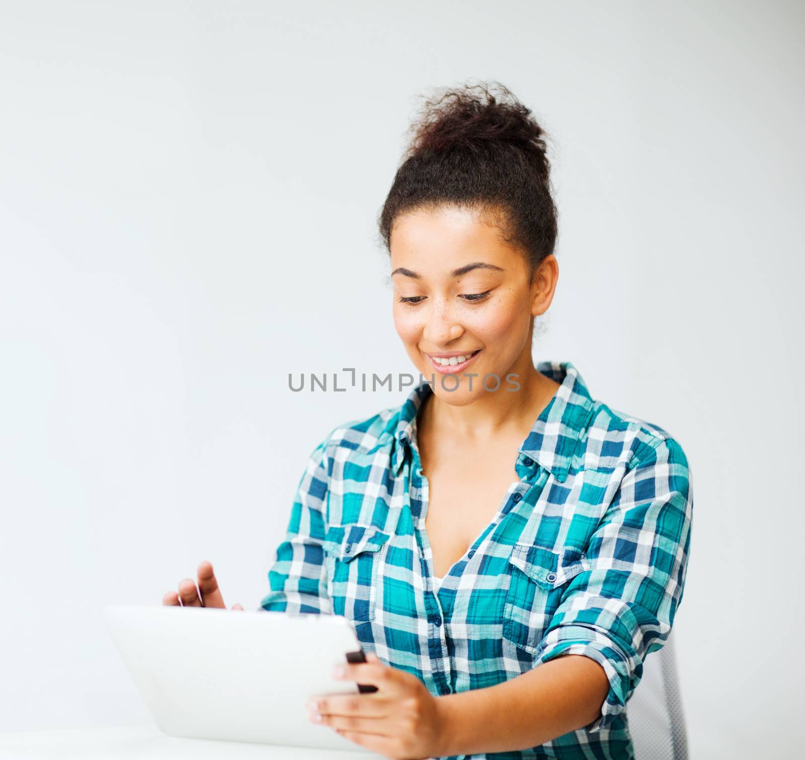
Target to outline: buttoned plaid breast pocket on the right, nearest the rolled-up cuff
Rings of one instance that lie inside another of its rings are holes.
[[[568,584],[589,568],[589,561],[576,549],[560,554],[547,547],[515,543],[509,557],[503,638],[535,655]]]

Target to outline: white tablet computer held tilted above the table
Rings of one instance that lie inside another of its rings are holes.
[[[365,661],[345,617],[167,605],[109,605],[105,617],[163,733],[374,754],[305,707],[316,694],[359,692],[331,678]]]

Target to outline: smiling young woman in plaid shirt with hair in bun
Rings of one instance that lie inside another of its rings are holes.
[[[367,653],[311,720],[390,758],[632,758],[625,704],[687,571],[687,460],[531,355],[551,305],[543,130],[502,85],[427,101],[379,219],[427,380],[312,452],[262,609]],[[181,598],[181,602],[180,602]],[[209,563],[164,603],[224,606]],[[239,605],[236,605],[239,607]]]

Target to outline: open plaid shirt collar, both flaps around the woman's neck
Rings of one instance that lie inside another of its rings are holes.
[[[569,361],[541,361],[536,369],[559,383],[551,401],[540,412],[530,432],[518,448],[520,456],[515,467],[527,473],[536,462],[547,469],[560,483],[568,477],[576,451],[587,430],[594,402],[579,371]],[[405,461],[406,449],[415,438],[415,423],[419,408],[433,389],[430,383],[416,386],[400,411],[394,430],[392,466],[399,473]],[[528,460],[532,465],[528,464]]]

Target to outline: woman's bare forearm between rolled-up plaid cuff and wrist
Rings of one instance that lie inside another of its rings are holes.
[[[439,754],[524,750],[583,728],[601,713],[609,679],[594,659],[561,655],[502,684],[440,696]]]

